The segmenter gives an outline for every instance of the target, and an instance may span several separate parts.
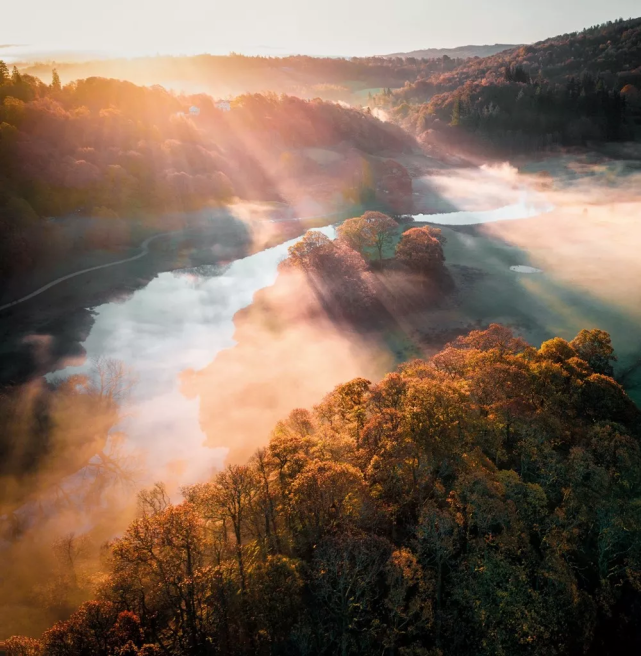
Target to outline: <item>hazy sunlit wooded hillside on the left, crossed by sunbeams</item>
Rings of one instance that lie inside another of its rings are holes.
[[[102,78],[63,87],[55,71],[44,84],[2,63],[0,103],[0,278],[137,246],[132,220],[233,198],[374,197],[389,179],[376,156],[413,145],[392,124],[320,100],[244,95],[223,112],[205,95]],[[307,148],[339,149],[345,161],[324,166]],[[70,215],[100,221],[74,241],[56,224]]]

